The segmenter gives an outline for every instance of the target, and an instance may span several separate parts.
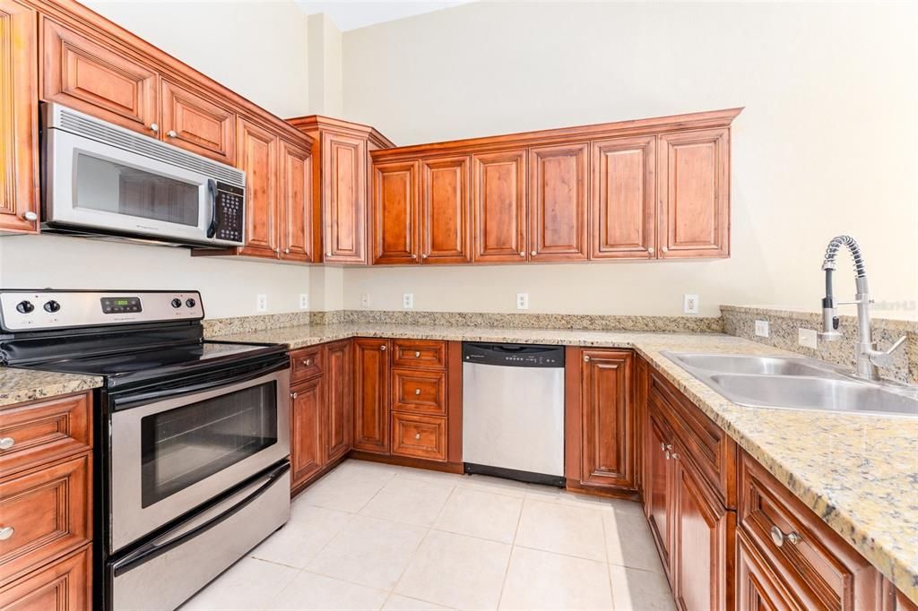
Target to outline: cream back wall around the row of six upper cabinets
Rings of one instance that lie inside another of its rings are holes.
[[[348,270],[344,305],[413,293],[416,309],[504,312],[528,292],[531,311],[666,315],[697,293],[704,315],[814,309],[825,244],[850,233],[893,304],[878,316],[918,317],[894,305],[918,298],[916,24],[915,3],[478,2],[345,32],[345,116],[398,144],[745,110],[729,260]]]

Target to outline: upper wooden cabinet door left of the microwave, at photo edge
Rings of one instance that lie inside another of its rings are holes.
[[[38,16],[0,0],[0,234],[39,230]]]

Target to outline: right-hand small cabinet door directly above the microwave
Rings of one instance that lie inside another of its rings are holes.
[[[161,94],[160,129],[165,141],[232,165],[236,155],[233,111],[166,79],[162,79]]]

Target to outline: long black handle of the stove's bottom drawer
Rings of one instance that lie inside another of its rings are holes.
[[[204,534],[207,530],[218,526],[218,524],[232,517],[246,505],[250,505],[255,499],[266,493],[268,488],[274,485],[274,482],[288,471],[290,471],[290,462],[285,461],[284,464],[278,465],[271,472],[265,473],[258,481],[252,482],[235,494],[230,494],[196,517],[116,561],[112,566],[115,576],[117,577],[129,572],[131,569],[136,569],[157,556],[161,556],[169,550],[174,550],[191,539],[195,539],[198,535]],[[254,489],[254,492],[252,492],[252,489]],[[240,497],[243,497],[242,500],[240,500]]]

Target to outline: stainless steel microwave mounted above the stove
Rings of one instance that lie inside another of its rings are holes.
[[[241,246],[245,172],[43,104],[42,228],[175,246]]]

